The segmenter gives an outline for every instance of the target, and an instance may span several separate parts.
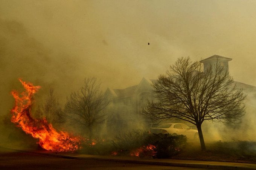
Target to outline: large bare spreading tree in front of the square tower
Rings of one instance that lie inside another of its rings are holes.
[[[179,58],[153,87],[157,102],[148,101],[143,114],[196,125],[202,151],[206,150],[201,129],[205,120],[237,123],[245,114],[246,96],[218,60],[203,72],[201,63]]]

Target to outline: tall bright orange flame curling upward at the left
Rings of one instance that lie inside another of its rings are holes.
[[[79,149],[81,137],[71,137],[63,131],[57,132],[45,118],[42,120],[32,118],[30,113],[32,97],[40,86],[33,86],[33,84],[26,83],[21,79],[19,81],[26,91],[21,94],[17,91],[11,92],[15,98],[15,106],[11,110],[11,121],[25,133],[37,138],[39,140],[37,143],[48,151],[67,152]]]

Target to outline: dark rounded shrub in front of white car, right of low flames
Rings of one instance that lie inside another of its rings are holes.
[[[154,158],[169,158],[177,155],[186,145],[187,138],[183,135],[171,136],[170,134],[151,134],[145,140],[146,143],[154,145]]]

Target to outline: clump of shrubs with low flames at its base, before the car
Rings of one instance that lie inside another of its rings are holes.
[[[114,138],[113,155],[168,158],[180,153],[186,142],[187,138],[183,135],[148,134],[143,130],[133,130]]]

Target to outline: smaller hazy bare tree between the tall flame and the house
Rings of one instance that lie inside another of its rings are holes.
[[[86,78],[78,92],[73,92],[67,98],[65,111],[76,124],[87,127],[89,137],[92,136],[94,125],[105,120],[103,110],[109,100],[102,91],[101,83],[96,78]]]

